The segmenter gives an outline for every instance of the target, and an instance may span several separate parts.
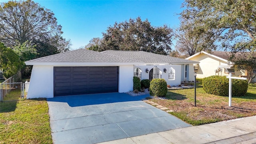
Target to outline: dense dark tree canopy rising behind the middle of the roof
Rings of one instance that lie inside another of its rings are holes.
[[[109,26],[97,51],[142,50],[167,55],[172,45],[172,29],[154,27],[140,17]],[[95,49],[95,47],[94,47]]]

